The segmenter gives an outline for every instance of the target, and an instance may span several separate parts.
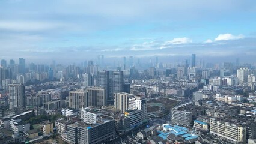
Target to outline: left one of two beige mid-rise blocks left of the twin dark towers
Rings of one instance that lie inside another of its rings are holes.
[[[83,107],[88,107],[88,95],[84,91],[69,92],[69,107],[81,110]]]

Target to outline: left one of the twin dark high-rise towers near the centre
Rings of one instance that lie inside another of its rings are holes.
[[[97,74],[97,86],[106,89],[107,100],[111,100],[110,97],[110,80],[109,71],[98,71]]]

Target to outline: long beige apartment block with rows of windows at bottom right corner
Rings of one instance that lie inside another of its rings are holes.
[[[233,124],[221,119],[210,118],[210,133],[230,140],[233,143],[246,141],[246,126]]]

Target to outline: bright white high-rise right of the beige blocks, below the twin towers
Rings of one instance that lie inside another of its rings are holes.
[[[129,99],[128,109],[141,110],[142,121],[147,120],[147,100],[144,96],[135,96]]]

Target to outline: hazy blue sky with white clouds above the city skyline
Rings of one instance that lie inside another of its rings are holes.
[[[256,58],[256,1],[1,0],[0,59]]]

